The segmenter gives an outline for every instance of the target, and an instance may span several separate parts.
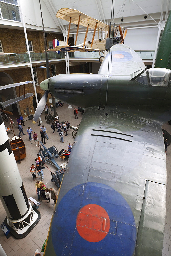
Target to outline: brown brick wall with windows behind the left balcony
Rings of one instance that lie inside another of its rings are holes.
[[[28,37],[28,40],[32,41],[34,52],[40,52],[44,50],[44,39],[43,39],[42,32],[27,31],[27,37]],[[52,34],[52,33],[51,35],[47,34],[47,45],[49,41],[53,41],[54,37],[57,38],[58,40],[63,40],[62,34]],[[25,36],[24,36],[23,30],[0,28],[0,40],[2,43],[4,53],[26,52]],[[73,45],[73,38],[70,38],[70,44]],[[56,66],[56,74],[66,73],[65,61],[57,62],[54,64]],[[49,66],[50,66],[50,75],[52,76],[51,64]],[[38,83],[40,84],[43,80],[46,79],[46,69],[37,67],[36,71],[37,71]],[[13,79],[14,83],[32,80],[30,68],[3,70],[3,72],[7,73]],[[80,72],[80,65],[70,67],[70,73],[79,73],[79,72]],[[19,97],[19,87],[16,87],[15,90],[16,90],[17,97]],[[37,91],[37,94],[39,94],[40,96],[44,94],[44,91],[40,88],[40,86],[36,86],[36,91]],[[25,94],[29,92],[32,92],[33,94],[35,94],[32,84],[27,84],[25,87]],[[23,95],[23,94],[24,94],[24,86],[21,86],[20,95]],[[51,94],[49,94],[48,100],[47,100],[48,106],[49,106],[49,99],[51,97],[52,97]],[[27,117],[29,114],[34,114],[33,98],[34,96],[19,102],[20,111],[23,117]],[[26,113],[26,115],[24,113]]]

